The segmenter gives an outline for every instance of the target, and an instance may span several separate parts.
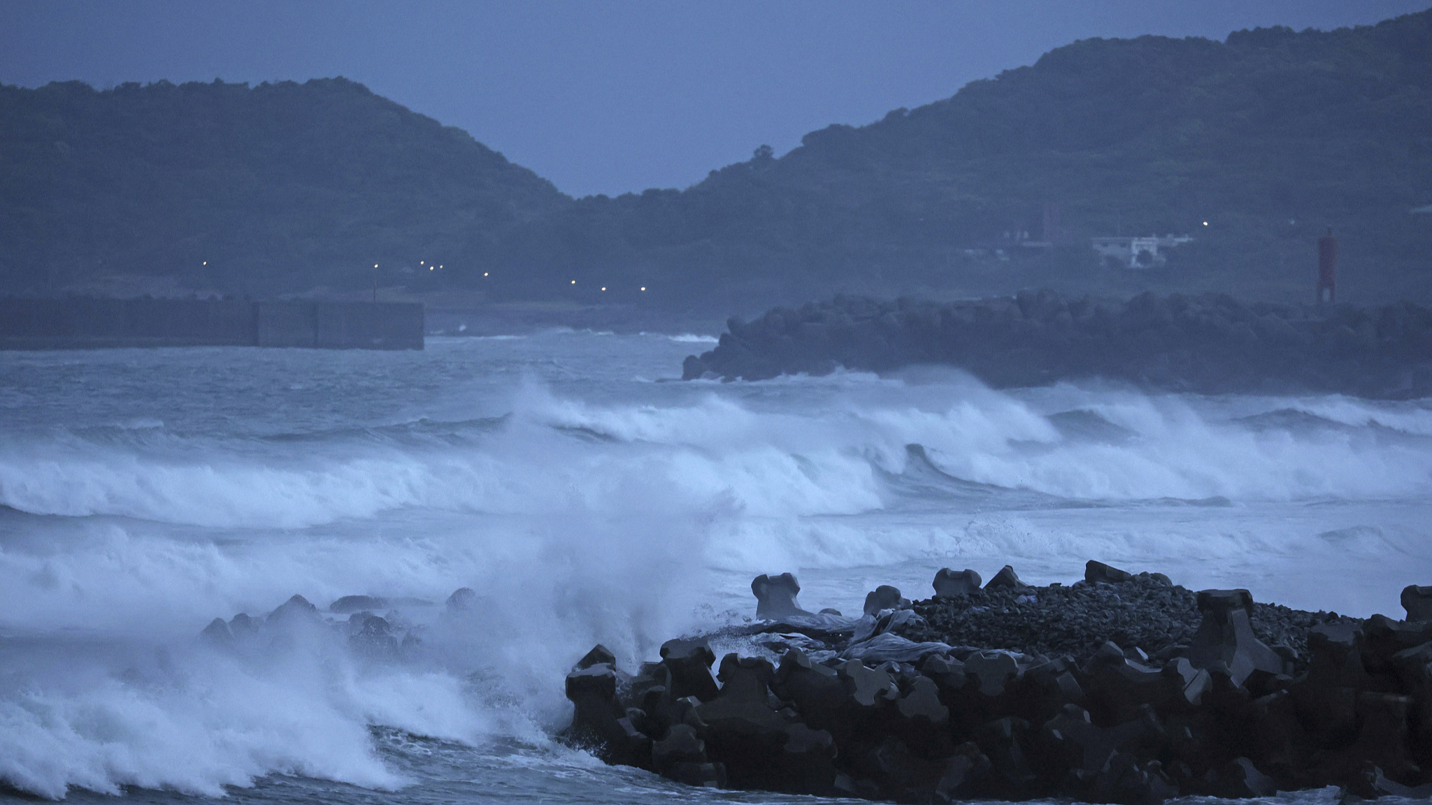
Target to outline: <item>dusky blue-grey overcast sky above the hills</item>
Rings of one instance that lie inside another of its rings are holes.
[[[0,0],[0,83],[347,76],[577,196],[948,97],[1075,39],[1332,29],[1432,0]]]

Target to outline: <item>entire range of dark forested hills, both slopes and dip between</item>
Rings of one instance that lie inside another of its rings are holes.
[[[1432,215],[1409,215],[1432,203],[1432,11],[1075,42],[686,191],[619,198],[570,199],[342,79],[0,87],[0,289],[105,272],[354,288],[372,262],[421,255],[444,271],[385,268],[384,284],[746,314],[1021,286],[1286,302],[1312,295],[1313,241],[1333,226],[1342,299],[1432,301]],[[1053,249],[1005,236],[1041,238],[1045,205]],[[1087,246],[1116,231],[1196,241],[1116,269]]]

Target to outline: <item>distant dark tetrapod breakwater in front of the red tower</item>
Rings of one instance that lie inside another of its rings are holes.
[[[836,297],[730,319],[686,380],[959,367],[997,388],[1101,377],[1151,390],[1432,395],[1432,311],[1411,302],[1244,305],[1207,294],[1127,302],[1021,291],[971,302]]]

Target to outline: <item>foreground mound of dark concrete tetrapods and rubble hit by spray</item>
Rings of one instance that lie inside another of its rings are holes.
[[[944,569],[931,599],[882,586],[845,617],[759,576],[749,626],[636,675],[581,657],[566,736],[690,785],[896,802],[1432,796],[1432,587],[1359,620],[1098,561],[1068,586],[979,580]],[[717,662],[732,637],[759,656]]]

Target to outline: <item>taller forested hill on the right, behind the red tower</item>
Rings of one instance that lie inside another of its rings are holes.
[[[541,292],[659,286],[748,312],[832,291],[1312,297],[1313,241],[1342,236],[1342,298],[1432,299],[1432,11],[1227,42],[1083,40],[954,97],[759,150],[684,191],[581,199],[474,255]],[[1042,235],[1045,203],[1063,232]],[[1209,225],[1204,226],[1203,222]],[[1190,233],[1153,271],[1093,235]],[[1004,246],[1008,261],[995,249]],[[566,282],[567,274],[557,279]]]

